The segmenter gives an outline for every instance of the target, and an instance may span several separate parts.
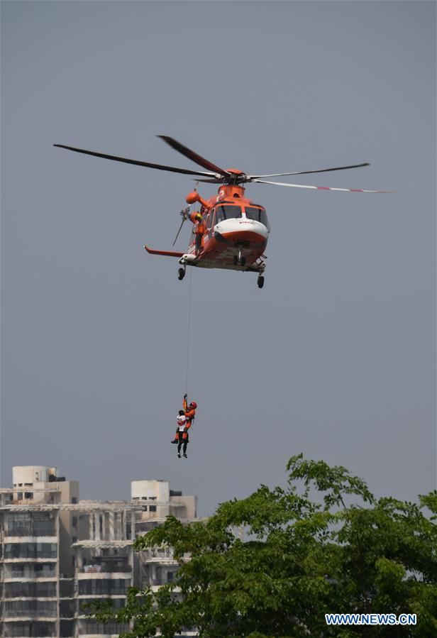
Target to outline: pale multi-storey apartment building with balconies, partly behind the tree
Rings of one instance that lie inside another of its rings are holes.
[[[79,483],[57,468],[14,467],[13,487],[0,490],[0,636],[101,638],[128,629],[99,625],[82,605],[111,598],[122,607],[131,585],[175,578],[171,549],[132,546],[169,514],[192,521],[197,497],[166,480],[133,480],[130,500],[80,500]]]

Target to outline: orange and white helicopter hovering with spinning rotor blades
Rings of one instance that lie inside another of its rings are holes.
[[[182,145],[178,141],[168,136],[158,136],[169,144],[172,148],[185,155],[185,157],[197,163],[208,172],[199,170],[189,170],[162,164],[143,162],[140,160],[130,160],[116,155],[106,155],[105,153],[95,153],[92,150],[74,148],[63,144],[55,144],[59,148],[67,148],[77,153],[94,155],[97,158],[115,160],[126,164],[156,168],[158,170],[168,170],[179,172],[184,175],[196,175],[197,181],[219,184],[219,194],[210,199],[203,199],[194,190],[187,195],[188,207],[182,209],[182,223],[177,231],[177,236],[173,242],[175,246],[179,232],[184,221],[192,221],[192,238],[185,253],[175,251],[155,251],[148,246],[144,246],[146,251],[152,255],[165,255],[167,257],[179,258],[178,278],[182,280],[185,275],[187,265],[198,266],[199,268],[227,268],[230,270],[245,270],[258,273],[258,287],[264,285],[265,270],[265,247],[270,233],[270,225],[267,219],[265,208],[260,204],[254,204],[251,199],[245,197],[244,184],[248,182],[258,182],[261,184],[272,184],[275,186],[287,186],[293,188],[311,188],[321,190],[334,190],[343,192],[364,192],[364,193],[387,193],[385,190],[367,190],[359,188],[333,188],[328,186],[309,186],[302,184],[287,184],[285,182],[265,181],[265,177],[280,177],[284,175],[304,175],[306,173],[327,172],[331,170],[345,170],[348,168],[358,168],[369,166],[368,163],[354,164],[350,166],[337,166],[333,168],[322,168],[319,170],[298,170],[294,172],[274,173],[270,175],[247,175],[235,168],[223,168],[202,158],[193,150]],[[199,179],[202,177],[203,179]],[[190,211],[193,204],[199,204],[197,211]]]

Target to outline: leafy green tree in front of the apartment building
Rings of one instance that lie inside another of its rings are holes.
[[[189,627],[210,638],[435,638],[437,492],[418,504],[378,500],[345,468],[302,454],[287,471],[285,488],[261,485],[206,522],[167,517],[138,538],[138,551],[172,546],[177,582],[156,593],[131,588],[122,610],[94,607],[99,622],[132,622],[126,638]],[[416,613],[417,624],[327,626],[333,612]]]

